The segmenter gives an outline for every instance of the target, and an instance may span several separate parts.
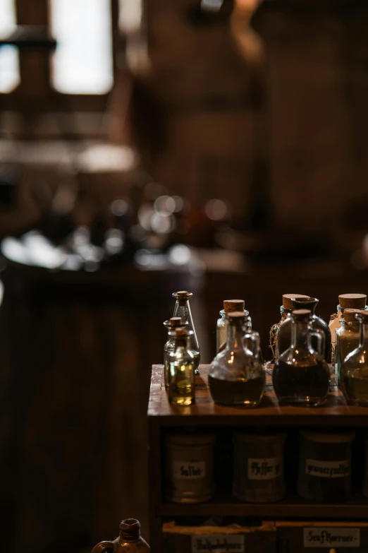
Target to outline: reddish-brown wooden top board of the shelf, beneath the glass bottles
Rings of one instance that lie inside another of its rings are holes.
[[[164,367],[152,367],[149,396],[149,424],[165,426],[331,426],[366,427],[368,408],[347,405],[341,391],[331,386],[326,404],[319,408],[278,405],[268,377],[266,393],[257,408],[232,408],[216,405],[208,387],[209,365],[200,365],[196,376],[195,403],[188,406],[172,405],[164,386]]]

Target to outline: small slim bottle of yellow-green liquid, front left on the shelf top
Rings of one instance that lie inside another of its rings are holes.
[[[195,359],[188,349],[193,331],[175,329],[174,350],[169,352],[168,400],[177,405],[191,405],[195,401]]]

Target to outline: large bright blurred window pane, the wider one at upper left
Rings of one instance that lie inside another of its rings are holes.
[[[106,94],[113,84],[110,0],[51,0],[58,47],[52,85],[64,94]]]

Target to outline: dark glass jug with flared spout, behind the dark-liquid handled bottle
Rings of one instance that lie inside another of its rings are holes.
[[[314,314],[314,311],[318,305],[319,300],[317,297],[293,297],[290,298],[293,309],[309,309],[312,313],[312,320],[310,321],[310,326],[312,331],[324,333],[324,353],[323,357],[326,361],[329,360],[331,355],[331,332],[329,325]],[[280,328],[278,328],[277,343],[278,343],[278,353],[281,355],[284,351],[290,347],[291,344],[291,318],[288,316],[284,319]],[[312,336],[312,347],[314,350],[317,350],[317,338]]]

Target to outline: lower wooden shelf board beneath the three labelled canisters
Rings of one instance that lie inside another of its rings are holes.
[[[322,504],[298,496],[269,504],[240,503],[233,498],[201,504],[164,503],[157,506],[157,516],[259,516],[276,518],[368,518],[368,500],[364,497],[344,503]]]

